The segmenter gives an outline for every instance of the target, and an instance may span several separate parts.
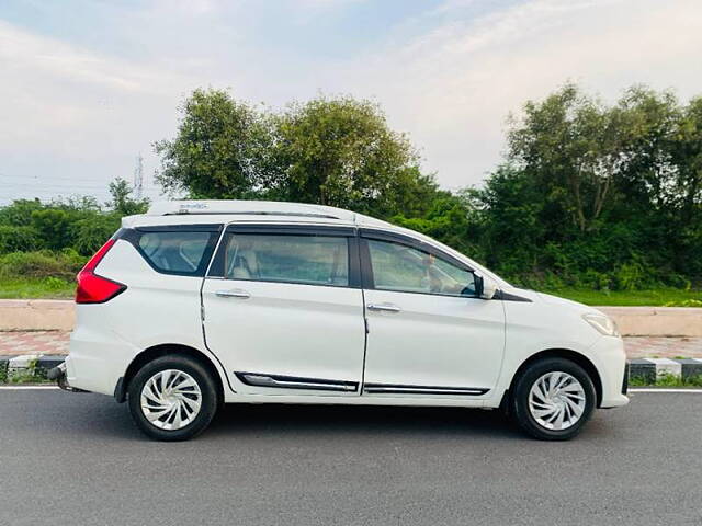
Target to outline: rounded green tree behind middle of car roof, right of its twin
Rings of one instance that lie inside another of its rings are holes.
[[[372,102],[294,103],[278,118],[278,136],[282,170],[271,183],[290,201],[386,215],[409,197],[408,188],[432,188],[407,137]]]

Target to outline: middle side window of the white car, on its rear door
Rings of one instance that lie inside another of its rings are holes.
[[[224,275],[228,279],[349,285],[346,237],[230,233]]]

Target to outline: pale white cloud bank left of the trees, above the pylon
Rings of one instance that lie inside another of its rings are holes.
[[[197,85],[4,22],[0,70],[2,202],[57,193],[103,196],[110,180],[129,179],[139,151],[154,165],[150,142],[174,127],[174,107]],[[64,183],[48,184],[54,178]],[[71,179],[76,185],[65,182]]]

